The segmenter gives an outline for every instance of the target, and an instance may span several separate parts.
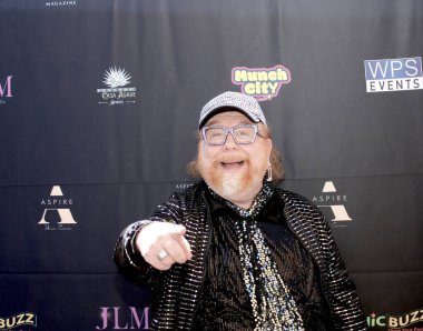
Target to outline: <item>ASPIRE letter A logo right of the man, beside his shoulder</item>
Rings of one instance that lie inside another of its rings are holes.
[[[327,214],[332,222],[348,222],[352,218],[346,212],[344,203],[346,202],[345,194],[337,194],[335,185],[332,181],[326,181],[321,195],[313,197],[313,202],[323,210],[329,209],[332,214]],[[340,225],[340,223],[337,223]]]

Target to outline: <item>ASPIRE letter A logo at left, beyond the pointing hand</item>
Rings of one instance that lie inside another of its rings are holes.
[[[72,204],[73,199],[65,198],[61,188],[55,185],[50,197],[41,200],[45,211],[38,224],[43,225],[45,230],[71,230],[71,225],[77,223],[70,211]]]

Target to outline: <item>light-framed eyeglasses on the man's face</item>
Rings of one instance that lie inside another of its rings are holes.
[[[238,144],[253,143],[257,136],[263,138],[263,136],[258,132],[257,124],[242,124],[234,128],[214,126],[204,127],[201,129],[204,141],[210,146],[224,144],[229,132],[234,138],[234,141]]]

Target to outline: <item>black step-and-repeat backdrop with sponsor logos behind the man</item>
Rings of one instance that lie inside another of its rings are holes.
[[[147,330],[120,231],[193,181],[201,107],[254,96],[371,330],[423,330],[423,2],[0,1],[0,330]]]

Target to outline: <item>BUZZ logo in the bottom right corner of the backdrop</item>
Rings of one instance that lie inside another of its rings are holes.
[[[402,315],[377,315],[372,313],[367,317],[367,325],[371,328],[387,328],[390,331],[423,331],[423,309],[416,309]]]

